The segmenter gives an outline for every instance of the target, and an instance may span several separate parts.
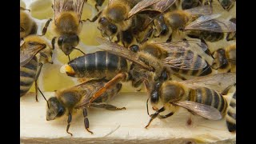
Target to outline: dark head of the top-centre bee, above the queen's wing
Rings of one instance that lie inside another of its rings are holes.
[[[117,34],[118,26],[114,25],[113,23],[109,22],[107,18],[102,17],[98,20],[99,30],[102,32],[102,36],[111,36]]]

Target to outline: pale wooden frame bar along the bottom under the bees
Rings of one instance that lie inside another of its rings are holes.
[[[54,93],[45,93],[47,99]],[[187,110],[165,120],[156,118],[145,129],[149,116],[146,114],[146,93],[121,93],[110,104],[126,110],[110,111],[88,109],[90,130],[83,124],[82,111],[74,115],[70,126],[73,137],[66,133],[67,117],[46,121],[46,102],[39,96],[35,102],[34,94],[29,93],[20,101],[20,138],[22,143],[235,143],[236,134],[226,128],[226,119],[210,121],[193,116],[193,125],[186,126],[190,117]],[[153,110],[150,109],[150,114]],[[108,141],[106,141],[108,140]]]

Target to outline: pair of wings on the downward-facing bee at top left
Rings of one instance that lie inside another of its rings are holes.
[[[74,11],[79,20],[85,0],[54,0],[54,20],[56,21],[63,11]]]

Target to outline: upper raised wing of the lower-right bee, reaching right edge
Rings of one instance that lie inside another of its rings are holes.
[[[198,87],[207,87],[212,90],[222,93],[227,87],[232,86],[236,83],[235,73],[222,73],[206,75],[202,77],[192,78],[186,81],[180,82],[191,89],[196,89]]]

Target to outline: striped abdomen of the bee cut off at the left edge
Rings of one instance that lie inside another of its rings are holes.
[[[32,86],[38,70],[38,61],[34,57],[25,66],[20,67],[20,96],[22,97]]]

